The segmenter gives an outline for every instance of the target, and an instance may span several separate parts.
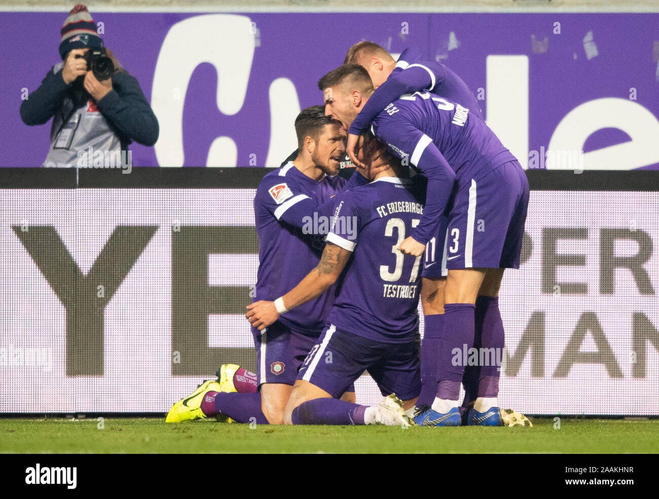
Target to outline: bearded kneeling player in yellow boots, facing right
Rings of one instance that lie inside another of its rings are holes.
[[[316,266],[333,215],[331,198],[367,182],[358,172],[349,182],[336,176],[345,153],[345,133],[339,122],[325,116],[323,106],[304,109],[295,120],[295,130],[301,152],[295,161],[266,174],[254,197],[259,240],[255,299],[281,296]],[[252,328],[259,392],[227,393],[220,389],[222,379],[207,381],[177,402],[165,421],[219,413],[239,423],[255,418],[256,423],[281,424],[297,370],[322,333],[333,292],[329,289],[267,330]],[[346,399],[354,401],[354,387],[345,391]]]

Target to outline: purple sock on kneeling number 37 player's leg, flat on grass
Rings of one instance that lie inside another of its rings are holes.
[[[314,398],[293,409],[294,425],[363,425],[366,406],[336,398]]]

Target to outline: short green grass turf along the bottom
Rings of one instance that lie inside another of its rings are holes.
[[[270,427],[163,419],[0,419],[0,453],[656,453],[659,420],[550,418],[534,426]]]

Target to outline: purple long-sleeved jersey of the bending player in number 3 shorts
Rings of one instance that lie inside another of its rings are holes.
[[[436,234],[453,182],[461,188],[516,161],[483,120],[470,119],[467,107],[429,92],[393,101],[376,117],[372,130],[391,153],[428,178],[424,216],[411,234],[422,244]]]

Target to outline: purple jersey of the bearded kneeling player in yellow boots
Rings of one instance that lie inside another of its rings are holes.
[[[322,221],[326,221],[326,230],[329,230],[334,204],[331,198],[345,188],[366,182],[359,174],[353,177],[347,184],[339,176],[325,176],[316,181],[293,163],[264,176],[254,197],[259,244],[254,301],[276,300],[318,265],[325,245],[324,236],[305,230],[305,226],[322,228]],[[325,326],[334,296],[335,289],[330,288],[315,300],[279,317],[279,321],[318,336]]]

